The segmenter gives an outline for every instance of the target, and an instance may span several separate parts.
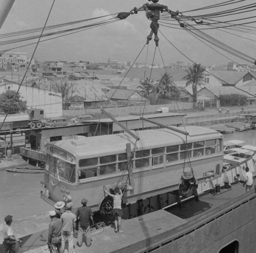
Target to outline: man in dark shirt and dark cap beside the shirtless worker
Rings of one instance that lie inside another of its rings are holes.
[[[76,245],[78,247],[82,246],[83,234],[84,234],[86,239],[86,246],[89,247],[91,245],[90,219],[92,224],[94,224],[93,218],[92,218],[93,213],[91,208],[86,206],[87,199],[82,199],[81,203],[83,206],[79,207],[78,210],[76,211],[76,220],[78,220],[78,217],[79,217]]]

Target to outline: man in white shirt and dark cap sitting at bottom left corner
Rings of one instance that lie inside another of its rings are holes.
[[[16,239],[11,229],[11,223],[13,222],[13,216],[7,215],[5,217],[5,224],[3,224],[3,244],[6,247],[5,252],[21,253],[19,244],[22,242],[20,239]]]

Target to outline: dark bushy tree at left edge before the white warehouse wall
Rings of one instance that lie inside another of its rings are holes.
[[[14,99],[13,105],[9,110],[9,114],[26,112],[26,110],[28,110],[27,101],[23,101],[21,98],[23,97],[21,97],[20,93],[16,95],[15,90],[7,90],[3,92],[2,94],[0,94],[0,111],[6,114]]]

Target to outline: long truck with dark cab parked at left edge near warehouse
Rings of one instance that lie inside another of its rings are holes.
[[[0,126],[2,126],[5,115],[0,115]],[[41,128],[44,119],[44,110],[31,108],[27,113],[9,114],[3,123],[1,131],[21,130],[24,128]]]

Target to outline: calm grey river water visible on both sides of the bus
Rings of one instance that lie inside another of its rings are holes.
[[[224,141],[238,139],[247,145],[256,145],[256,130],[242,131],[223,135]],[[10,214],[13,219],[45,213],[52,210],[40,198],[43,173],[23,174],[0,171],[0,223]]]

